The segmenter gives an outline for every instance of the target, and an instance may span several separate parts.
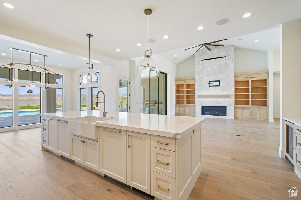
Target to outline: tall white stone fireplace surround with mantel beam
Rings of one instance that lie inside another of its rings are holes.
[[[222,56],[227,57],[202,61]],[[195,55],[195,64],[196,117],[234,119],[234,46],[201,49]],[[208,88],[209,80],[220,80],[221,86]],[[202,106],[226,106],[227,116],[202,115]]]

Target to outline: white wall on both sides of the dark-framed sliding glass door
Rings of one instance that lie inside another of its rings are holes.
[[[136,73],[136,67],[142,58],[143,57],[133,58],[135,62],[130,63],[131,85],[135,85],[134,87],[133,86],[131,87],[131,91],[132,91],[131,98],[133,100],[135,99],[135,106],[133,102],[131,103],[131,105],[133,106],[131,107],[131,109],[133,108],[131,112],[135,112],[135,113],[140,113],[140,104],[141,104],[141,99],[140,99],[141,78],[136,77],[135,73]],[[175,115],[175,76],[177,73],[177,65],[157,54],[152,55],[152,58],[158,63],[160,71],[167,74],[167,114]]]

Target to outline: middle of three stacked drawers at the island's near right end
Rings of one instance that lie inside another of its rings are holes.
[[[152,147],[153,171],[175,178],[175,152]]]

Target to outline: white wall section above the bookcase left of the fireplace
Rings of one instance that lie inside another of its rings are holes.
[[[176,78],[195,77],[195,54],[177,65]]]

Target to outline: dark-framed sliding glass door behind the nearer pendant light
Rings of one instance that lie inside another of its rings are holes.
[[[150,92],[150,95],[149,95]],[[167,74],[141,78],[141,113],[167,115]]]

